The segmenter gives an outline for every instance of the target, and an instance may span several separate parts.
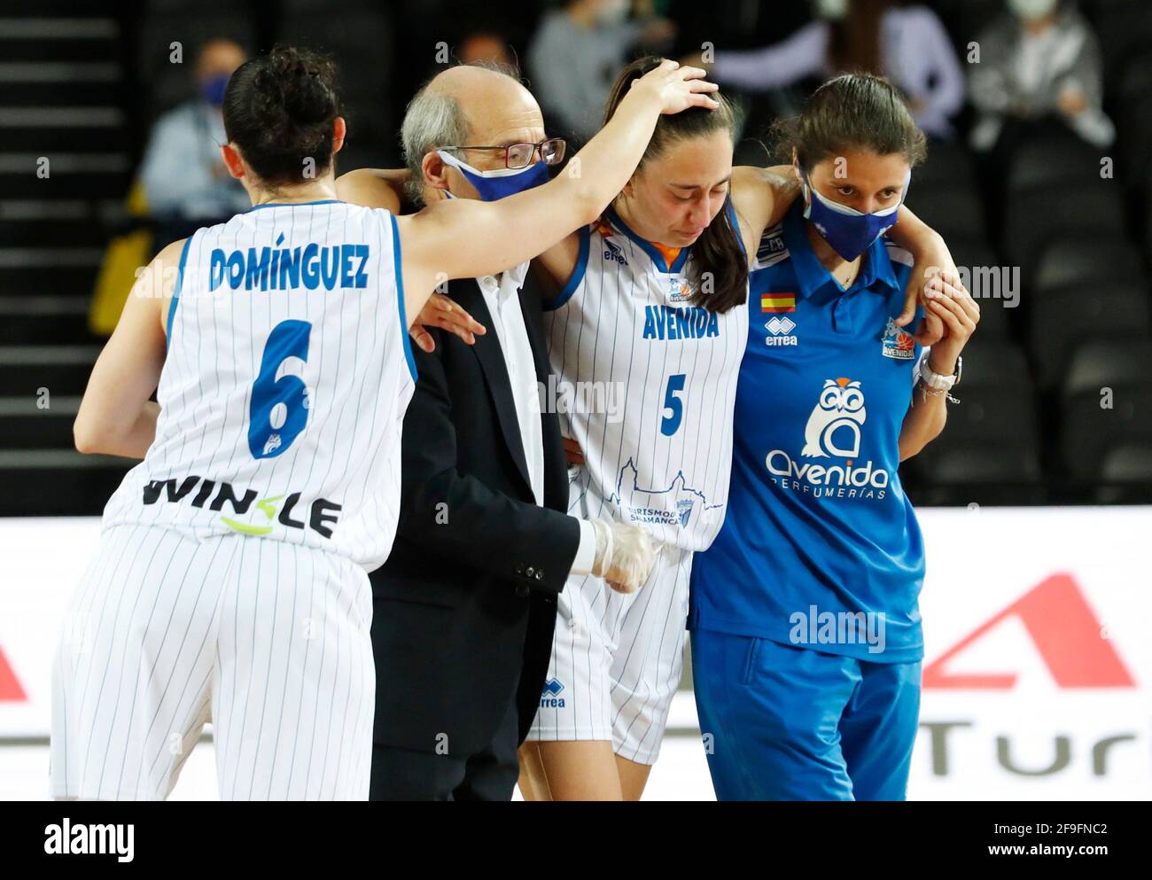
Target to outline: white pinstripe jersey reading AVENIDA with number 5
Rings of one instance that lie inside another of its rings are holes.
[[[545,321],[550,401],[584,452],[586,514],[698,551],[727,508],[748,305],[692,305],[690,259],[687,248],[666,257],[609,208],[581,230],[576,270]]]

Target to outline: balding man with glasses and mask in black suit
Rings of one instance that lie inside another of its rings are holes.
[[[446,198],[449,188],[476,198],[493,194],[479,192],[437,150],[539,143],[544,123],[516,79],[457,67],[409,105],[403,137],[406,153],[416,157],[409,180],[419,184],[407,190],[410,198]],[[506,166],[503,150],[460,152],[473,168]],[[399,206],[378,173],[353,172],[339,191],[358,204]],[[539,405],[538,388],[548,387],[543,291],[528,264],[499,279],[453,281],[447,293],[487,332],[433,329],[434,350],[414,350],[418,379],[404,417],[396,540],[371,575],[371,799],[509,799],[568,575],[596,570],[611,578],[645,554],[651,567],[642,530],[564,513],[560,424],[551,407]],[[529,419],[539,419],[539,431]],[[607,530],[614,540],[606,540]]]

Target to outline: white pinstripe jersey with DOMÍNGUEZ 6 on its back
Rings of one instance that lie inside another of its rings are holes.
[[[105,528],[164,525],[387,557],[415,364],[387,212],[260,205],[199,229],[168,312],[160,417]]]

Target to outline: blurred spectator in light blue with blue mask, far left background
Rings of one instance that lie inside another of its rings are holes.
[[[244,51],[228,39],[211,39],[196,59],[197,97],[157,120],[141,167],[156,241],[190,235],[251,207],[240,182],[220,158],[223,90],[244,62]]]

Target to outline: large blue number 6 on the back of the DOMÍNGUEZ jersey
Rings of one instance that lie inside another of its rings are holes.
[[[252,384],[248,448],[253,458],[274,458],[291,446],[308,425],[308,386],[298,375],[276,373],[289,357],[308,362],[309,321],[281,321],[272,328]]]

